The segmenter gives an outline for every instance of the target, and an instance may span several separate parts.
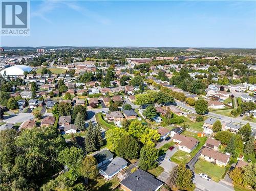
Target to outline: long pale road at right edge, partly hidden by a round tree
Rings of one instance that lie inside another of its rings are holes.
[[[177,101],[177,100],[176,100],[176,103],[177,103],[177,106],[182,107],[182,108],[184,108],[186,110],[189,110],[189,111],[191,111],[193,113],[196,113],[196,111],[195,111],[195,109],[193,107],[190,107],[190,106],[188,106],[188,105],[186,105],[186,104],[184,104],[184,103],[182,103],[180,101]],[[244,121],[244,120],[241,120],[240,118],[232,118],[232,117],[228,117],[228,116],[220,115],[220,114],[216,114],[216,113],[211,113],[211,112],[207,113],[206,116],[214,117],[214,118],[219,118],[220,120],[222,120],[224,122],[227,122],[227,123],[233,122],[233,123],[243,124],[243,125],[249,123],[251,128],[256,129],[256,123]]]

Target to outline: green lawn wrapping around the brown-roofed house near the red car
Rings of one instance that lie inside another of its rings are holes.
[[[197,154],[197,152],[203,147],[203,145],[205,144],[205,141],[207,139],[207,137],[197,137],[196,133],[192,133],[189,131],[184,131],[182,134],[186,135],[186,136],[194,137],[194,138],[198,139],[200,142],[199,142],[198,146],[191,153],[187,153],[187,152],[180,151],[180,150],[177,151],[170,158],[170,160],[172,160],[173,162],[175,162],[177,164],[189,162],[189,160],[191,160],[191,158],[193,158]]]

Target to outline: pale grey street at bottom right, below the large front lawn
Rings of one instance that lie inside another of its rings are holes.
[[[226,185],[222,182],[215,182],[213,180],[207,181],[203,178],[201,178],[198,174],[195,173],[195,182],[196,182],[196,187],[199,188],[200,190],[205,190],[205,191],[231,191],[234,190],[232,186]]]

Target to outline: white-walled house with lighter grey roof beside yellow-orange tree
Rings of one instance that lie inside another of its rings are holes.
[[[101,174],[106,179],[110,179],[118,174],[121,170],[126,168],[127,164],[128,162],[126,160],[117,156],[111,161],[100,166],[99,174]]]

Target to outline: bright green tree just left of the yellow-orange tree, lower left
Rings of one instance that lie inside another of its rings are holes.
[[[80,166],[82,163],[83,151],[80,148],[65,148],[58,155],[58,161],[63,165],[67,165],[69,172],[74,180],[80,176]]]

